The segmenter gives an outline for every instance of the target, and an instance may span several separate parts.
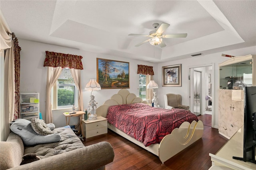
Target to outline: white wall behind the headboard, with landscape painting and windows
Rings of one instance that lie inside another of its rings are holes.
[[[157,75],[157,64],[149,63],[145,61],[139,61],[134,59],[128,59],[124,57],[102,55],[97,53],[90,53],[87,51],[81,51],[78,49],[71,49],[66,47],[60,47],[56,45],[49,45],[44,43],[36,43],[32,41],[19,39],[20,51],[20,92],[39,92],[40,93],[40,112],[42,118],[46,118],[46,71],[47,68],[43,66],[45,59],[45,51],[54,51],[58,53],[66,53],[73,55],[81,55],[83,57],[82,63],[84,70],[81,70],[82,84],[83,86],[90,80],[90,78],[97,78],[96,75],[96,58],[110,59],[116,61],[129,62],[130,66],[130,93],[139,95],[138,84],[139,76],[137,74],[138,64],[144,64],[153,66],[154,72]],[[113,94],[116,94],[120,89],[102,89],[100,91],[93,92],[97,106],[103,104],[103,102]],[[84,107],[87,108],[90,101],[90,91],[82,91]],[[56,127],[62,127],[66,125],[65,117],[62,115],[64,111],[71,111],[70,109],[59,109],[53,111],[53,123]],[[70,125],[76,125],[78,123],[78,117],[71,117]]]

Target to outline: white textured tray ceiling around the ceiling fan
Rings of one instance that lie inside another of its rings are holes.
[[[150,62],[256,45],[256,0],[0,0],[18,39]],[[166,47],[136,44],[153,23],[169,23]]]

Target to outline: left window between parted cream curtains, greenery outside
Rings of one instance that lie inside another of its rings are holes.
[[[69,68],[63,68],[55,86],[52,88],[53,109],[77,106],[78,90]]]

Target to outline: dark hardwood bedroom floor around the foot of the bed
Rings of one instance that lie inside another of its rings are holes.
[[[164,164],[154,154],[110,130],[107,135],[94,137],[83,143],[88,146],[101,141],[109,142],[115,153],[114,161],[106,165],[106,170],[208,170],[212,164],[209,153],[215,154],[227,139],[218,134],[218,129],[204,125],[202,139]]]

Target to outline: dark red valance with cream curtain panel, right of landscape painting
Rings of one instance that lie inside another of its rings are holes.
[[[153,80],[153,75],[154,75],[153,66],[138,65],[137,74],[146,75],[146,85],[148,85],[150,80]],[[149,102],[151,102],[152,98],[153,98],[153,89],[146,88],[146,99],[148,99]]]

